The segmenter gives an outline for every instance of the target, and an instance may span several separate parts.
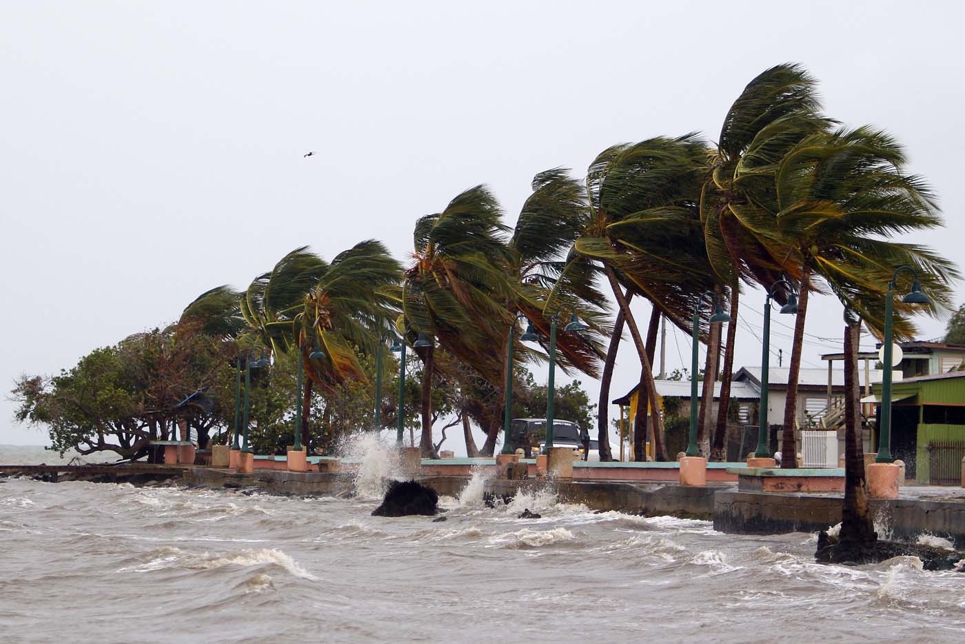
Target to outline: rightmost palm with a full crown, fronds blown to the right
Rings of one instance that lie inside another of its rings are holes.
[[[933,302],[947,307],[948,260],[889,238],[942,225],[934,197],[904,172],[905,154],[894,138],[870,127],[814,133],[773,166],[773,224],[758,238],[790,252],[786,266],[801,275],[784,419],[782,464],[795,466],[797,371],[801,362],[808,294],[821,280],[872,328],[883,328],[880,301],[891,271],[912,264]],[[900,307],[899,307],[900,311]],[[909,331],[896,321],[896,337]]]

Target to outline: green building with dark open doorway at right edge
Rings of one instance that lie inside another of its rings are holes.
[[[881,384],[863,403],[880,413]],[[877,433],[873,437],[877,450]],[[892,455],[924,485],[961,485],[965,457],[965,371],[892,383]]]

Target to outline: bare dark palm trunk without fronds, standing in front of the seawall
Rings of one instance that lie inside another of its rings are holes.
[[[841,506],[839,544],[858,553],[875,541],[868,507],[865,455],[861,441],[861,396],[858,382],[858,345],[861,321],[844,326],[844,504]],[[856,557],[854,561],[860,561]]]

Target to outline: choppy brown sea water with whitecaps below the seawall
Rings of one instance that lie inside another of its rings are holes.
[[[3,641],[965,637],[965,574],[915,558],[822,566],[812,534],[595,514],[552,489],[487,508],[481,475],[443,522],[376,518],[371,471],[354,498],[0,479]]]

